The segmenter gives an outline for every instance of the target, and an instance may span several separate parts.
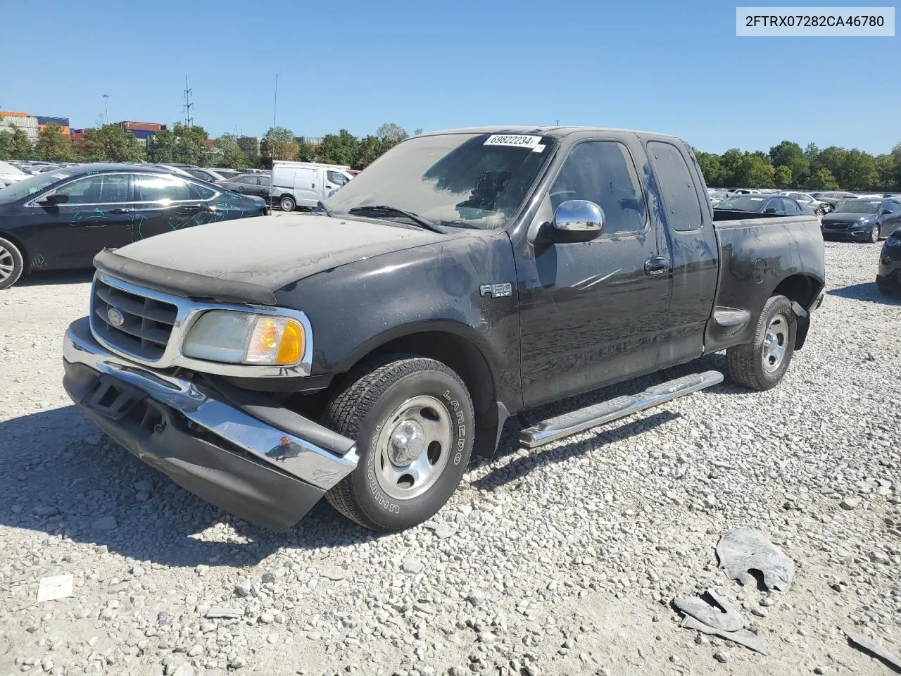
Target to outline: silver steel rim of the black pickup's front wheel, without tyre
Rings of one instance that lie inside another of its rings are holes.
[[[373,464],[380,489],[409,500],[431,489],[451,456],[451,413],[436,397],[407,399],[387,416]]]

